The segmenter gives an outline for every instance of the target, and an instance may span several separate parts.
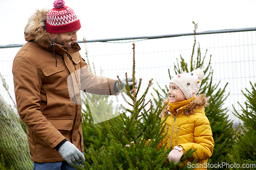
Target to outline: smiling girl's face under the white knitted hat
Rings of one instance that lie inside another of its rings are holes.
[[[185,95],[176,84],[170,83],[169,87],[170,88],[169,88],[168,94],[169,94],[170,103],[177,103],[177,102],[182,102],[186,100]]]

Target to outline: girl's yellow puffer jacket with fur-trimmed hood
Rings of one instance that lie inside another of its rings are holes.
[[[208,158],[214,150],[214,139],[208,118],[204,113],[204,106],[207,104],[207,98],[204,95],[194,96],[193,98],[178,102],[169,103],[167,99],[162,112],[162,121],[165,120],[164,134],[167,136],[161,141],[159,147],[167,143],[166,149],[176,145],[183,148],[183,153],[188,149],[197,149],[194,157],[198,158],[198,164],[187,163],[195,169],[207,169]]]

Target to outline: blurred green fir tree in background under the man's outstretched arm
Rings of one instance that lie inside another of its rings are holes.
[[[101,147],[108,147],[110,144],[110,141],[107,138],[110,129],[109,122],[104,121],[94,124],[94,121],[96,122],[97,120],[93,119],[92,114],[94,114],[94,116],[105,116],[106,113],[113,113],[113,101],[109,101],[108,95],[96,95],[89,93],[84,94],[84,99],[85,100],[82,101],[86,106],[85,109],[82,109],[82,116],[84,120],[82,124],[84,157],[86,157],[86,161],[89,164],[92,164],[89,150],[92,149],[94,153],[98,155]],[[113,115],[118,115],[118,108]]]

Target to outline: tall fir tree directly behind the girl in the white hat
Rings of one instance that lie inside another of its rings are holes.
[[[186,61],[180,56],[181,61],[175,64],[174,70],[176,74],[181,74],[183,71],[185,72],[191,72],[197,68],[204,69],[204,80],[201,84],[201,89],[199,90],[198,94],[205,94],[206,97],[209,99],[208,103],[209,105],[205,107],[205,114],[209,119],[212,135],[214,137],[215,141],[215,148],[213,155],[209,158],[208,163],[218,163],[218,162],[225,162],[229,161],[227,160],[227,154],[229,153],[230,148],[232,148],[233,145],[233,130],[232,130],[232,122],[228,119],[227,114],[227,108],[222,108],[223,103],[226,99],[224,96],[225,87],[223,89],[219,88],[219,84],[214,84],[212,82],[212,75],[213,70],[211,69],[210,62],[211,62],[211,55],[209,57],[209,62],[205,63],[205,57],[207,54],[207,50],[204,54],[204,56],[201,55],[201,49],[200,44],[197,49],[197,58],[194,59],[195,55],[195,47],[196,47],[196,30],[198,28],[198,25],[194,23],[195,29],[194,29],[194,44],[193,44],[193,51],[190,58],[190,66],[186,63]],[[169,72],[169,70],[168,70]],[[169,72],[169,79],[171,79],[170,72]],[[160,90],[155,89],[155,92],[157,93],[157,96],[155,97],[154,94],[154,101],[155,103],[159,103],[159,99],[167,99],[169,90],[168,86],[165,85],[165,88],[162,88],[160,85],[158,85]],[[208,168],[210,169],[210,168]],[[222,169],[222,168],[219,168]]]

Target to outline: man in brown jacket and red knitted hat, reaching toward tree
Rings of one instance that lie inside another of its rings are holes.
[[[84,161],[80,89],[119,93],[118,81],[88,70],[76,42],[80,27],[62,0],[50,11],[37,10],[25,28],[28,42],[13,61],[17,108],[27,125],[34,169],[74,169]]]

